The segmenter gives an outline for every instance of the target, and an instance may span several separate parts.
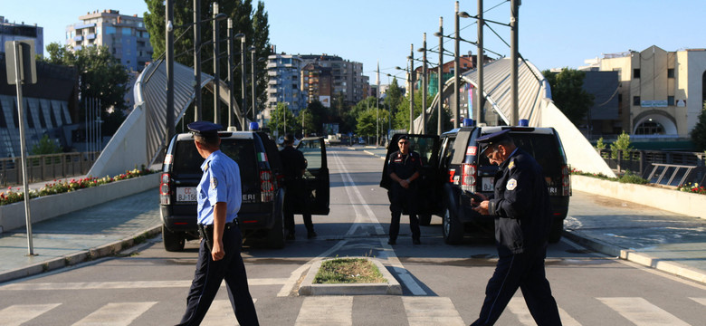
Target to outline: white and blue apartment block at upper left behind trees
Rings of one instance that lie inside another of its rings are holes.
[[[66,27],[66,44],[74,50],[84,46],[106,46],[120,63],[141,72],[152,60],[152,44],[142,17],[119,14],[118,10],[94,11],[79,17],[81,23]]]

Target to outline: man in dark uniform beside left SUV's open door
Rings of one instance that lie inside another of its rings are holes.
[[[301,151],[294,148],[294,136],[284,136],[284,149],[280,151],[281,165],[284,172],[284,228],[287,230],[287,240],[294,240],[294,208],[302,207],[304,225],[307,227],[307,238],[316,236],[314,225],[309,213],[309,191],[303,176],[307,168],[307,160]]]

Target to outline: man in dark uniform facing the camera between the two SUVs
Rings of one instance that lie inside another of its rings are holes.
[[[392,185],[387,193],[390,198],[390,239],[388,245],[395,245],[399,234],[399,218],[403,207],[409,213],[409,228],[412,231],[412,243],[421,244],[419,240],[419,219],[416,216],[417,184],[415,180],[422,170],[422,159],[419,154],[409,150],[409,138],[405,135],[397,140],[399,150],[390,155],[387,161],[387,172],[392,179]]]

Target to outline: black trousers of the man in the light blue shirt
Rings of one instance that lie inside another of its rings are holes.
[[[194,281],[186,297],[186,312],[179,325],[198,325],[204,320],[205,313],[214,301],[215,293],[218,292],[223,280],[238,323],[243,326],[259,325],[253,297],[248,290],[243,257],[240,255],[242,242],[243,236],[237,226],[225,229],[223,235],[225,256],[215,262],[211,258],[211,252],[205,240],[201,240]]]

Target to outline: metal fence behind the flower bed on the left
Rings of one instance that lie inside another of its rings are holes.
[[[100,151],[27,157],[27,183],[81,176],[91,169]],[[0,158],[0,185],[22,185],[22,158]]]

